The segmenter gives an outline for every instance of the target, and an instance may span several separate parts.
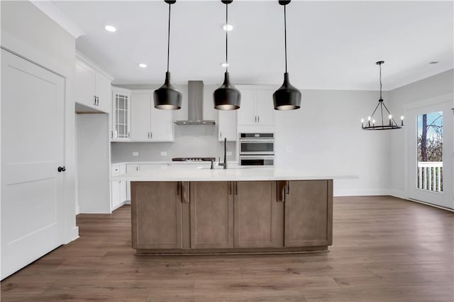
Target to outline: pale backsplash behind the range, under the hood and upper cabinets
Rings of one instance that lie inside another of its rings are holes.
[[[227,142],[228,161],[236,160],[236,142]],[[138,156],[133,156],[138,152]],[[162,156],[161,152],[167,152]],[[111,142],[112,162],[162,162],[172,157],[223,157],[217,125],[175,125],[174,142]]]

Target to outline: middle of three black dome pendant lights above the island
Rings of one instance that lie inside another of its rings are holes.
[[[226,4],[226,26],[228,25],[228,4],[233,0],[221,0]],[[214,91],[214,108],[218,110],[236,110],[240,108],[241,94],[238,89],[231,84],[228,78],[228,30],[226,29],[226,72],[223,84]]]

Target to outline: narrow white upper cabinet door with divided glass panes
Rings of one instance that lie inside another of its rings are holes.
[[[112,91],[112,134],[114,141],[130,140],[131,138],[131,93],[128,91]]]

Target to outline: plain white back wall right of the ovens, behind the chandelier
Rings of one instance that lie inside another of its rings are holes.
[[[387,194],[389,133],[361,130],[360,123],[378,98],[377,91],[302,91],[299,110],[276,113],[277,165],[349,176],[334,181],[336,196]]]

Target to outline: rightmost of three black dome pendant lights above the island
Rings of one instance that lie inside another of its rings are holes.
[[[301,107],[301,91],[290,84],[287,73],[287,11],[285,6],[289,3],[290,0],[279,0],[279,4],[284,6],[285,73],[284,83],[272,94],[275,110],[294,110]]]

